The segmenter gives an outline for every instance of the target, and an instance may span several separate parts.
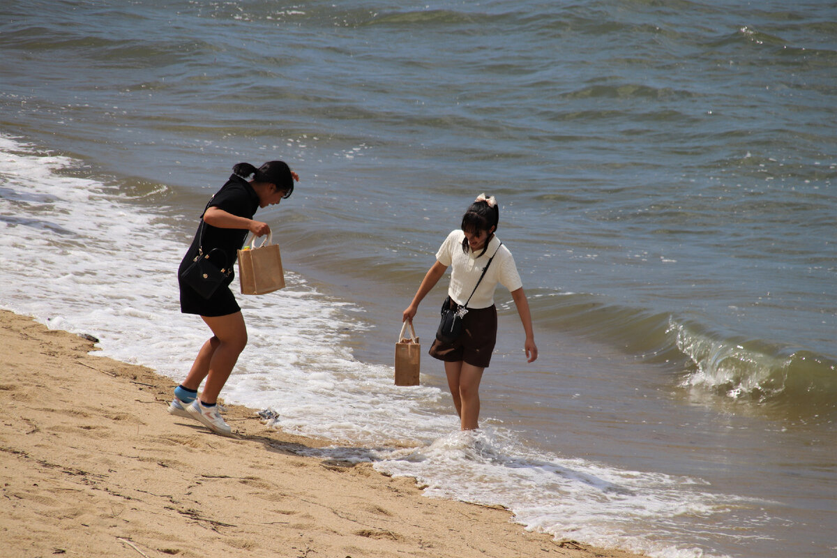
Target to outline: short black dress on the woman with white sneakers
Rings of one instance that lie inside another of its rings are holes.
[[[229,181],[209,200],[207,209],[209,207],[218,207],[237,217],[252,219],[259,208],[259,196],[244,178],[232,175]],[[205,209],[204,212],[206,212]],[[203,223],[203,215],[201,215],[201,222]],[[244,244],[248,233],[249,231],[245,228],[218,228],[203,223],[202,239],[201,228],[198,226],[192,245],[183,257],[180,269],[177,270],[177,282],[180,284],[180,311],[183,314],[213,317],[235,314],[241,310],[233,292],[229,289],[234,274],[230,275],[227,284],[218,287],[208,299],[204,299],[195,289],[185,284],[180,279],[180,275],[189,264],[192,264],[194,257],[198,254],[198,248],[203,248],[203,253],[208,253],[213,248],[220,248],[223,254],[214,253],[213,260],[218,264],[223,263],[223,267],[227,269],[233,269],[237,250]],[[217,259],[216,256],[218,256]]]

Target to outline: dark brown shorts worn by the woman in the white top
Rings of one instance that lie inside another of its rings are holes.
[[[497,309],[470,309],[462,320],[462,335],[452,343],[443,343],[436,339],[430,346],[429,354],[439,361],[465,361],[471,366],[488,368],[491,353],[497,342]]]

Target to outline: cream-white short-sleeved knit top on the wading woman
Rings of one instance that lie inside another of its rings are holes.
[[[514,257],[505,244],[501,245],[497,235],[491,238],[485,253],[476,259],[474,256],[477,254],[472,253],[470,248],[468,248],[468,253],[462,250],[463,240],[465,240],[465,233],[461,229],[451,231],[436,253],[439,264],[451,268],[448,294],[451,299],[454,299],[454,302],[465,305],[465,301],[468,300],[471,291],[474,290],[474,286],[480,279],[482,270],[485,268],[485,264],[488,264],[491,256],[494,256],[494,260],[491,262],[488,271],[485,272],[485,277],[482,278],[474,296],[471,297],[468,308],[488,308],[493,305],[494,291],[498,283],[503,284],[509,291],[520,289],[523,286],[520,274],[517,273]],[[482,250],[479,252],[482,252]]]

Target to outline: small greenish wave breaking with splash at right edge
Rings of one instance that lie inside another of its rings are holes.
[[[546,301],[544,301],[546,299]],[[539,321],[665,366],[677,385],[788,417],[837,417],[837,360],[788,343],[724,335],[694,319],[592,294],[541,298]]]

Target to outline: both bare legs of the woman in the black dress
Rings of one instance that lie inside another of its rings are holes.
[[[235,314],[208,317],[201,316],[213,332],[213,337],[203,344],[192,368],[183,381],[183,387],[197,390],[206,378],[206,385],[201,392],[201,401],[214,403],[227,382],[241,351],[247,345],[247,327],[241,312]]]

